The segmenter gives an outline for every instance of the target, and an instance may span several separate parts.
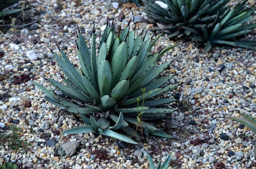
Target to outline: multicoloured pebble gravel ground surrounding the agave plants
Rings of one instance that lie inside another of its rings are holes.
[[[256,99],[251,90],[256,80],[255,51],[227,47],[223,51],[213,48],[211,53],[204,54],[203,45],[169,40],[165,34],[155,45],[155,51],[163,46],[180,46],[167,52],[159,64],[180,57],[163,74],[182,72],[170,83],[189,82],[163,95],[179,95],[179,104],[183,102],[186,107],[173,114],[180,127],[168,132],[176,139],[145,138],[142,144],[134,146],[92,133],[60,135],[82,123],[45,101],[44,93],[29,82],[34,80],[49,87],[43,76],[61,79],[47,45],[57,51],[56,42],[79,65],[76,23],[89,40],[93,23],[96,36],[101,36],[107,16],[114,17],[123,28],[131,16],[139,20],[146,14],[142,8],[128,9],[121,3],[116,9],[113,0],[81,0],[80,6],[73,0],[61,1],[61,5],[56,0],[33,2],[40,21],[29,28],[11,29],[0,35],[0,122],[6,125],[3,130],[20,127],[20,139],[30,144],[19,151],[10,150],[7,144],[0,145],[0,164],[11,157],[11,161],[17,160],[24,169],[60,168],[61,161],[64,168],[70,169],[144,169],[148,168],[146,152],[149,152],[155,163],[163,162],[172,153],[171,163],[182,169],[256,166],[253,132],[224,118],[239,116],[234,110],[256,115]],[[124,17],[120,22],[118,16],[122,12]],[[255,21],[256,16],[252,22]],[[140,34],[143,28],[149,30],[153,25],[137,26]],[[180,107],[177,103],[169,106]],[[59,151],[60,145],[65,153]]]

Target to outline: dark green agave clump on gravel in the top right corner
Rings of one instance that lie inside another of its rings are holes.
[[[248,34],[256,23],[246,25],[255,8],[245,8],[247,0],[230,8],[229,0],[154,0],[143,1],[145,12],[160,29],[170,31],[170,37],[189,37],[205,42],[205,52],[215,45],[232,45],[255,49],[255,41],[236,41],[235,37]]]

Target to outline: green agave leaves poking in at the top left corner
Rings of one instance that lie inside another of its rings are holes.
[[[20,0],[0,0],[0,18],[16,14],[21,11],[27,11],[30,8],[25,9],[8,9],[10,6],[18,3]]]

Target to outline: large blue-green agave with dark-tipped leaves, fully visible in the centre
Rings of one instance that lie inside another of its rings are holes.
[[[142,120],[156,120],[173,112],[172,109],[155,106],[168,104],[175,99],[152,98],[178,86],[162,87],[174,76],[156,79],[172,63],[166,62],[157,66],[157,62],[166,51],[177,45],[152,54],[151,48],[160,36],[153,40],[153,37],[148,38],[148,33],[144,37],[143,33],[137,37],[134,34],[135,28],[129,32],[129,26],[115,34],[114,24],[107,24],[99,44],[99,53],[96,54],[94,28],[90,48],[79,31],[77,48],[81,69],[74,67],[60,48],[61,57],[52,51],[65,75],[61,78],[66,85],[53,79],[47,80],[67,97],[58,96],[52,88],[49,91],[35,82],[33,84],[46,93],[47,101],[80,115],[86,124],[62,134],[93,132],[137,144],[131,138],[140,140],[140,137],[131,126],[140,125],[146,136],[171,138],[145,121],[139,124],[137,117]],[[141,88],[145,88],[144,93]],[[118,129],[122,129],[129,137],[114,132]]]

